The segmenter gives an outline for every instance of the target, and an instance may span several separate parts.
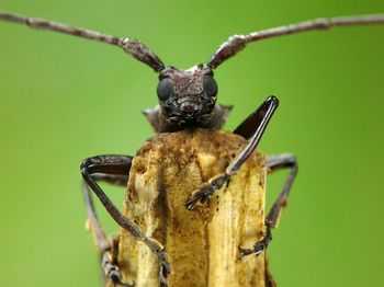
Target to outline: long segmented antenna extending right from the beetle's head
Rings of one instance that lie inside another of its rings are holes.
[[[359,15],[359,16],[339,16],[339,18],[321,18],[312,21],[305,21],[296,24],[262,30],[252,32],[248,35],[234,35],[224,42],[215,51],[207,62],[212,69],[217,68],[223,61],[235,56],[242,50],[248,43],[257,42],[264,38],[279,37],[294,33],[328,30],[337,26],[354,26],[354,25],[372,25],[384,24],[384,14]]]

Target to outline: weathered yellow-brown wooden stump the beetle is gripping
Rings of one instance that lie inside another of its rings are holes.
[[[266,260],[239,257],[264,233],[264,156],[255,152],[205,206],[184,207],[193,191],[223,173],[247,140],[204,129],[159,134],[137,152],[124,215],[161,244],[172,273],[169,286],[266,286]],[[158,286],[158,262],[122,230],[118,267],[135,286]]]

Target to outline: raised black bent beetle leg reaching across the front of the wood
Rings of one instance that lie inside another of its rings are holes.
[[[236,174],[236,172],[240,169],[242,163],[250,157],[250,154],[256,150],[266,128],[271,119],[274,111],[279,105],[279,100],[275,96],[269,96],[262,105],[253,112],[242,124],[239,126],[244,126],[247,135],[250,134],[250,126],[252,128],[252,137],[250,138],[248,145],[244,148],[244,150],[236,157],[236,159],[227,167],[224,174],[216,175],[211,179],[202,188],[195,191],[192,194],[191,199],[185,203],[185,207],[190,210],[194,208],[197,202],[201,204],[205,204],[210,196],[212,196],[215,191],[219,190],[224,184],[228,184],[230,177]],[[237,131],[237,128],[235,131]],[[242,129],[242,128],[240,128]],[[246,135],[246,136],[247,136]]]

